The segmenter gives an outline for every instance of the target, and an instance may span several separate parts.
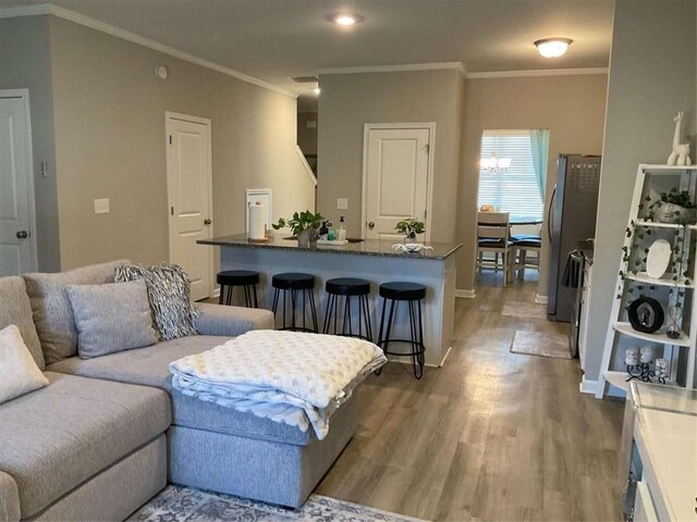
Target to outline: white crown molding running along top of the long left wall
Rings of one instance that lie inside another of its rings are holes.
[[[99,30],[100,33],[106,33],[117,38],[121,38],[122,40],[127,40],[132,44],[147,47],[148,49],[161,52],[162,54],[168,54],[179,60],[183,60],[201,67],[210,69],[227,76],[231,76],[233,78],[241,79],[242,82],[256,85],[257,87],[262,87],[273,92],[278,92],[279,95],[288,96],[290,98],[297,98],[297,95],[295,95],[294,92],[285,90],[281,87],[277,87],[276,85],[264,82],[262,79],[255,78],[254,76],[241,73],[240,71],[234,71],[232,69],[225,67],[224,65],[220,65],[219,63],[195,57],[184,51],[180,51],[179,49],[175,49],[173,47],[166,46],[164,44],[160,44],[155,40],[150,40],[149,38],[145,38],[120,27],[115,27],[113,25],[107,24],[106,22],[85,16],[84,14],[76,13],[75,11],[71,11],[69,9],[59,8],[58,5],[53,5],[50,3],[41,3],[38,5],[23,5],[17,8],[0,8],[0,18],[36,16],[42,14],[51,14],[53,16],[58,16],[59,18],[68,20],[75,24],[89,27],[90,29]]]

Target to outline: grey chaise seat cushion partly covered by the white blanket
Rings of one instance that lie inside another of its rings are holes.
[[[294,426],[187,397],[179,390],[172,389],[170,362],[182,357],[209,350],[229,339],[229,337],[208,335],[182,337],[147,348],[122,351],[121,353],[112,353],[96,359],[78,359],[74,357],[51,364],[49,370],[86,377],[157,386],[166,389],[171,394],[172,398],[173,423],[180,426],[286,444],[309,444],[314,439],[314,435],[309,430],[304,433]]]

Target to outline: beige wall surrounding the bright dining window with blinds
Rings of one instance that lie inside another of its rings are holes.
[[[457,288],[475,285],[477,195],[481,133],[487,129],[549,128],[546,208],[557,181],[559,154],[600,154],[608,76],[541,76],[467,79],[460,165],[456,239],[464,244],[457,256]],[[547,295],[549,243],[542,234],[538,294]]]

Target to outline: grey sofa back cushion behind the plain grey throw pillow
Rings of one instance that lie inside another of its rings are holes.
[[[56,274],[24,274],[47,364],[77,353],[77,330],[68,298],[68,285],[113,283],[115,268],[127,262],[112,261]]]

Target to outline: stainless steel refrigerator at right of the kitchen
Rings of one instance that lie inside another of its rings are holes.
[[[551,263],[547,319],[571,322],[576,289],[574,277],[564,282],[568,254],[596,235],[600,185],[600,157],[561,154],[557,161],[557,185],[547,214]],[[566,286],[571,284],[572,286]]]

